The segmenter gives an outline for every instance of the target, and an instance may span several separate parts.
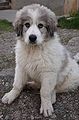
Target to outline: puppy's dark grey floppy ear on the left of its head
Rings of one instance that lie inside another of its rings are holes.
[[[22,20],[19,15],[19,11],[16,13],[15,21],[13,23],[14,30],[16,32],[17,37],[20,37],[23,35],[23,25]]]

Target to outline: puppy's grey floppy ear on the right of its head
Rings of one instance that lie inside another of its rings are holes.
[[[54,36],[54,32],[57,31],[56,23],[55,23],[55,21],[53,20],[53,18],[51,16],[49,16],[47,23],[48,23],[47,24],[47,31],[48,31],[49,35],[51,37],[53,37]]]

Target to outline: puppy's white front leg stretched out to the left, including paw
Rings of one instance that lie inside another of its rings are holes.
[[[25,71],[19,65],[16,66],[15,69],[15,78],[13,83],[13,88],[10,92],[6,93],[3,98],[3,103],[12,103],[16,97],[19,96],[23,86],[25,85],[27,78],[25,80]]]

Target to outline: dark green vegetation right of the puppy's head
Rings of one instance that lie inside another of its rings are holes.
[[[58,26],[68,29],[79,29],[79,11],[75,14],[70,14],[69,17],[61,17],[58,20]]]

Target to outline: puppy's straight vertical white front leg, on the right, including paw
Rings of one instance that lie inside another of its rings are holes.
[[[52,106],[52,92],[54,91],[56,85],[56,74],[45,73],[42,75],[43,77],[41,81],[41,90],[40,90],[40,96],[41,96],[40,113],[43,113],[45,117],[48,117],[51,116],[52,113],[54,113],[54,109]]]

